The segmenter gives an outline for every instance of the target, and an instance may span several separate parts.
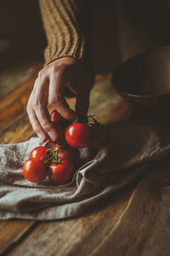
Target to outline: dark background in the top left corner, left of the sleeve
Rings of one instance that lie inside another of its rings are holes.
[[[0,40],[8,42],[3,64],[20,60],[43,61],[46,37],[38,2],[0,1]]]

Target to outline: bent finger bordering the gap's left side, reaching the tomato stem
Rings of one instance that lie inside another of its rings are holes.
[[[63,75],[50,79],[48,102],[67,120],[76,119],[76,113],[71,110],[63,96],[66,79]]]

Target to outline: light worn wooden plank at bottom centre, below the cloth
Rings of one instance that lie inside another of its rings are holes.
[[[122,195],[112,195],[81,218],[39,224],[8,255],[89,255],[116,224],[131,193],[128,190]]]

